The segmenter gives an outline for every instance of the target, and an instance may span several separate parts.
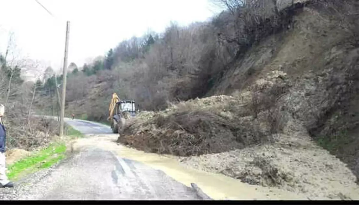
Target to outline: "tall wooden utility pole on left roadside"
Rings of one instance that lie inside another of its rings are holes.
[[[69,47],[70,22],[66,22],[66,40],[64,69],[62,71],[62,97],[61,97],[61,115],[60,115],[60,137],[64,135],[64,116],[65,116],[65,98],[66,98],[66,75],[67,75],[67,48]]]

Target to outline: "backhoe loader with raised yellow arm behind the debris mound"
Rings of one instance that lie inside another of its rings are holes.
[[[111,123],[113,133],[120,133],[126,120],[136,116],[136,107],[134,100],[120,100],[116,93],[112,94],[109,106],[109,116],[107,118]]]

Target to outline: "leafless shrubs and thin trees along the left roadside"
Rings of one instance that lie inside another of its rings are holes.
[[[5,106],[3,122],[6,127],[6,147],[8,150],[18,148],[31,151],[50,143],[57,134],[57,123],[31,117],[38,85],[24,82],[21,73],[36,71],[39,65],[30,59],[19,58],[14,45],[10,35],[5,54],[0,54],[0,103]]]

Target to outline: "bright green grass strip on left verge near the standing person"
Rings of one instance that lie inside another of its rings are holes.
[[[65,158],[65,143],[54,143],[49,147],[33,153],[8,167],[8,178],[16,180],[21,176],[49,168]]]

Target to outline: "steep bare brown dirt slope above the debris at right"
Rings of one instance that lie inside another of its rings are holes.
[[[359,20],[348,25],[337,16],[357,14],[359,5],[343,2],[348,4],[331,9],[313,4],[296,10],[294,29],[253,47],[209,95],[248,90],[270,71],[285,72],[293,86],[285,101],[290,113],[359,177]]]

